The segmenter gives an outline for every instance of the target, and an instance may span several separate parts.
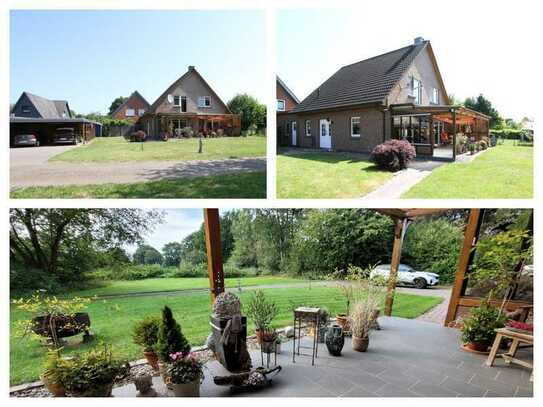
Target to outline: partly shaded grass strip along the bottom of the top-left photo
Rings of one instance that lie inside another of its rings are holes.
[[[265,172],[240,172],[130,184],[67,185],[14,189],[11,198],[266,198]]]

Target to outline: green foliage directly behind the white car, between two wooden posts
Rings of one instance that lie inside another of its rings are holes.
[[[451,283],[463,239],[462,228],[446,219],[415,221],[407,229],[402,262],[416,270],[439,274],[441,283]]]

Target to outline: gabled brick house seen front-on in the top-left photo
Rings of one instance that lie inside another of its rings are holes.
[[[195,135],[223,131],[241,133],[241,118],[233,114],[193,66],[176,80],[140,118],[150,138],[180,137],[191,128]]]

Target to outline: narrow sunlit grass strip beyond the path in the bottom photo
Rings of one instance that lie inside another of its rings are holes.
[[[225,278],[224,283],[227,288],[237,287],[238,283],[242,287],[255,285],[273,285],[273,284],[303,284],[306,280],[291,277],[242,277]],[[209,288],[209,279],[207,277],[184,277],[184,278],[148,278],[145,280],[131,281],[107,281],[98,287],[75,291],[72,295],[80,297],[92,297],[95,295],[123,295],[141,292],[155,291],[179,291],[193,290],[198,288]]]

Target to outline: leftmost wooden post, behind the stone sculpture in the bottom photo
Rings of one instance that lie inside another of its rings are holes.
[[[207,274],[211,301],[224,292],[224,271],[221,254],[221,228],[218,209],[204,209],[204,228],[207,249]]]

